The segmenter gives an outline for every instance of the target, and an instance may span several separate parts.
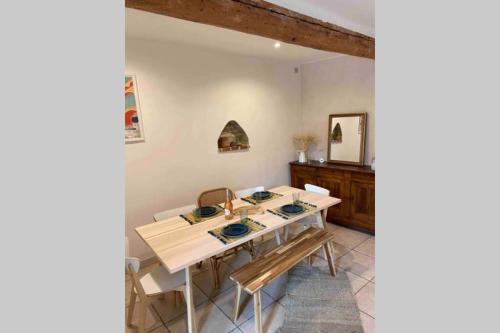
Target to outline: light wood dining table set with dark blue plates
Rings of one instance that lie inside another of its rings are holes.
[[[309,215],[315,215],[318,225],[324,228],[328,208],[341,202],[339,198],[306,192],[286,185],[274,187],[268,191],[280,196],[269,201],[259,202],[258,205],[263,209],[264,213],[249,216],[252,220],[264,225],[265,228],[251,232],[232,242],[222,242],[210,234],[209,231],[238,222],[239,217],[237,215],[231,220],[226,220],[224,215],[220,215],[195,224],[189,223],[181,216],[175,216],[135,229],[139,237],[151,248],[168,272],[185,271],[185,298],[189,333],[197,332],[193,304],[192,265],[259,238],[266,233],[274,232]],[[312,209],[297,216],[285,217],[273,213],[272,209],[291,203],[293,193],[299,193],[299,200],[307,203]],[[234,209],[249,205],[249,202],[241,198],[233,200],[232,203]]]

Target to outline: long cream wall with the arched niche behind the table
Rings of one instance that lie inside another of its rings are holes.
[[[125,145],[131,255],[152,255],[134,228],[158,211],[195,203],[203,190],[289,184],[292,136],[301,129],[293,65],[132,39],[125,54],[126,74],[137,77],[146,138]],[[248,152],[218,152],[229,120],[247,133]]]

